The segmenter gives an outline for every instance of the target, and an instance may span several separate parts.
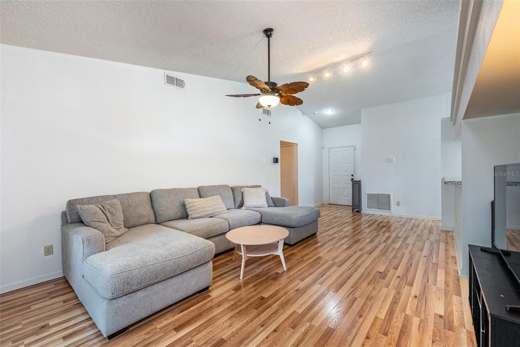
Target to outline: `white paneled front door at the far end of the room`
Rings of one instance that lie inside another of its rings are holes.
[[[329,202],[352,205],[354,147],[329,148]]]

